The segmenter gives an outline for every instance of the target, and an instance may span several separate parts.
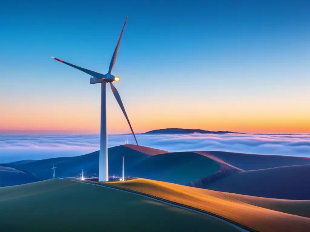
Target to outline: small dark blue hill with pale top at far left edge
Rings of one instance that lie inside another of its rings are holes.
[[[39,181],[33,174],[23,172],[11,167],[0,166],[0,187],[26,184]]]

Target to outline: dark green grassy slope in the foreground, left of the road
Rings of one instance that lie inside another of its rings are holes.
[[[72,180],[0,188],[0,231],[238,231],[142,196]]]

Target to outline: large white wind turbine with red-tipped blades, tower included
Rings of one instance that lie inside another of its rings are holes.
[[[120,35],[120,37],[118,39],[116,48],[114,50],[114,53],[113,53],[113,56],[112,56],[112,59],[111,59],[111,62],[110,62],[110,66],[109,66],[109,70],[108,70],[107,74],[101,74],[101,73],[94,72],[94,71],[91,71],[91,70],[88,70],[88,69],[85,69],[85,68],[81,68],[81,67],[78,67],[76,65],[73,65],[73,64],[70,64],[68,62],[65,62],[65,61],[62,61],[60,59],[52,57],[52,58],[54,58],[55,60],[57,60],[59,62],[62,62],[64,64],[66,64],[66,65],[69,65],[69,66],[71,66],[73,68],[76,68],[78,70],[81,70],[81,71],[91,75],[92,77],[90,79],[90,84],[101,83],[100,152],[99,152],[99,178],[98,178],[98,180],[100,182],[108,181],[109,180],[108,179],[107,113],[106,113],[106,84],[107,83],[110,83],[110,86],[111,86],[112,92],[114,94],[114,97],[115,97],[116,101],[118,102],[118,105],[121,107],[121,109],[123,111],[123,114],[125,115],[125,118],[126,118],[128,124],[129,124],[130,129],[131,129],[131,132],[132,132],[133,136],[135,137],[135,133],[134,133],[134,131],[133,131],[132,127],[131,127],[131,124],[129,122],[129,118],[128,118],[127,114],[126,114],[126,111],[125,111],[124,105],[122,103],[121,97],[120,97],[117,89],[112,84],[113,81],[119,81],[120,78],[111,74],[112,69],[113,69],[114,64],[115,64],[115,61],[116,61],[117,51],[118,51],[118,48],[119,48],[119,45],[120,45],[120,42],[121,42],[121,39],[122,39],[122,35],[123,35],[123,31],[124,31],[124,28],[125,28],[125,25],[126,25],[126,22],[127,22],[127,18],[128,18],[128,16],[126,17],[126,20],[125,20],[125,23],[124,23],[121,35]],[[136,141],[136,144],[138,145],[136,137],[135,137],[135,141]]]

